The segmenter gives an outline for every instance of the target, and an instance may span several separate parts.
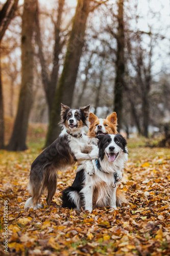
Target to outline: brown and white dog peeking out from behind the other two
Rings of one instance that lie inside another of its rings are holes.
[[[90,143],[98,143],[98,138],[96,136],[98,135],[106,135],[106,134],[117,134],[117,115],[116,112],[113,112],[111,115],[109,115],[106,119],[98,118],[93,113],[89,113],[88,117],[89,121],[89,132],[88,137]],[[77,168],[77,173],[81,171],[83,168],[87,174],[92,176],[94,174],[94,168],[91,168],[89,160],[83,161],[80,166]],[[122,179],[122,175],[117,176],[117,182]],[[124,195],[124,193],[117,188],[116,189],[116,206],[121,206],[122,203],[127,203],[127,199]]]

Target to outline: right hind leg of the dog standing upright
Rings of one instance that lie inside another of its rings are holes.
[[[46,202],[48,205],[50,205],[53,196],[56,193],[56,188],[57,188],[57,174],[53,174],[53,176],[48,178],[48,182],[46,184],[46,188],[48,191],[47,197],[46,197]]]

